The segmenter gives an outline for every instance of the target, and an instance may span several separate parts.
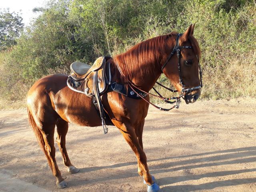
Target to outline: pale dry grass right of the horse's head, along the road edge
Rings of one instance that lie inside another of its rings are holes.
[[[204,68],[202,98],[256,97],[256,52],[226,61],[226,65]]]

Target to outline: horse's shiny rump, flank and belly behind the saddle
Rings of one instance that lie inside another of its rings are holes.
[[[28,108],[33,116],[62,118],[80,126],[100,126],[92,98],[68,88],[65,74],[53,74],[39,79],[28,91]]]

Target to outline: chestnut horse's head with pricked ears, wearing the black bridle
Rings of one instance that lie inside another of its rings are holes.
[[[201,52],[193,32],[194,25],[190,25],[183,34],[176,34],[175,37],[172,34],[172,37],[168,38],[165,62],[162,64],[162,72],[170,79],[172,85],[184,94],[186,104],[194,103],[200,97],[202,87],[199,64]]]

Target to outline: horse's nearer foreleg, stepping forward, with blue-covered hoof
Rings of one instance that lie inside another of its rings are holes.
[[[141,173],[143,173],[144,180],[146,184],[148,184],[148,191],[157,192],[159,190],[159,186],[154,183],[149,173],[146,154],[143,151],[143,148],[140,146],[134,126],[127,123],[118,126],[118,128],[136,155]]]

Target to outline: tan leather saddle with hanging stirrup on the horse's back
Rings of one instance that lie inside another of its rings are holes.
[[[106,64],[106,60],[109,58],[99,57],[92,66],[81,62],[72,63],[70,65],[72,73],[67,80],[70,89],[93,98],[93,103],[100,112],[104,134],[108,133],[108,128],[106,127],[106,115],[100,95],[107,91],[111,81],[110,66]],[[108,73],[106,75],[107,68]]]

